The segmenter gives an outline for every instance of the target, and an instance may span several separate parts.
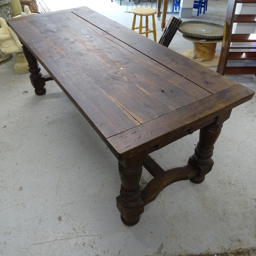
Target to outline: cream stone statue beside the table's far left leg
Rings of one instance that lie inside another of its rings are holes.
[[[6,54],[16,53],[13,68],[16,73],[28,73],[28,62],[24,56],[22,44],[16,34],[9,28],[5,19],[0,17],[0,50]]]

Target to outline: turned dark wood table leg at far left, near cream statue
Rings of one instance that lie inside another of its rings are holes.
[[[30,81],[32,86],[35,88],[36,95],[44,95],[46,93],[45,89],[45,78],[41,74],[41,69],[37,63],[36,58],[34,55],[28,50],[28,48],[23,44],[22,45],[24,55],[29,64],[29,72],[30,72]]]

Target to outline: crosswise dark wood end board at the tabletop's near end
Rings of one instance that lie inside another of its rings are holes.
[[[236,84],[211,97],[198,100],[195,104],[187,105],[108,138],[109,148],[119,160],[131,157],[148,148],[156,147],[162,141],[189,131],[194,126],[205,125],[207,120],[211,122],[212,118],[230,111],[237,105],[250,100],[252,96],[250,89],[241,90],[240,84]]]

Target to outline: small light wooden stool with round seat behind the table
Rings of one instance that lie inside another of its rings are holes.
[[[146,34],[146,37],[148,36],[148,33],[153,33],[155,42],[157,41],[156,22],[155,22],[156,12],[157,11],[155,9],[147,8],[147,7],[139,7],[139,8],[133,9],[134,18],[133,18],[133,27],[132,27],[132,30],[139,29],[139,33],[141,35]],[[139,25],[139,27],[135,28],[136,15],[140,15],[140,25]],[[146,25],[145,26],[142,26],[142,17],[143,16],[146,16]],[[148,16],[152,16],[153,30],[148,29]],[[146,31],[142,32],[143,28],[145,28]]]

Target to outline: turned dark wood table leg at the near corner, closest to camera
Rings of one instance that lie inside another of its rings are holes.
[[[140,177],[142,164],[126,168],[118,163],[121,178],[120,196],[117,197],[117,208],[121,213],[121,220],[127,226],[136,225],[144,211],[144,202],[140,197]]]

